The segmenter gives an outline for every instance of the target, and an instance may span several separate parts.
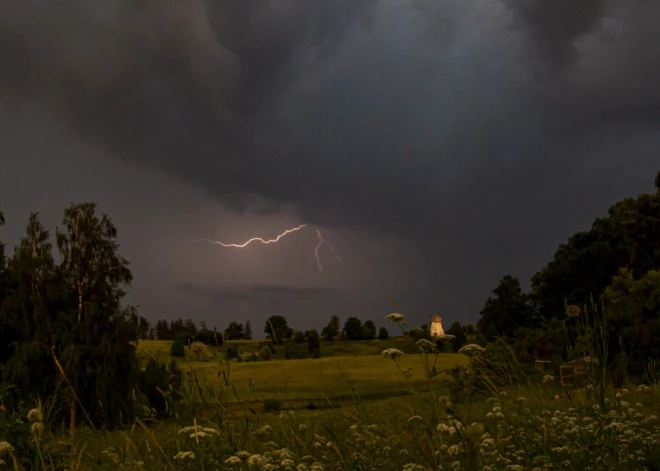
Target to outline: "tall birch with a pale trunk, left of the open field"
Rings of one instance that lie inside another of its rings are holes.
[[[132,281],[128,262],[119,255],[117,229],[110,218],[96,215],[96,204],[74,204],[64,212],[57,231],[61,273],[66,293],[74,300],[68,329],[58,329],[58,355],[75,396],[71,424],[78,408],[108,427],[133,417],[137,387],[135,335],[122,308]]]

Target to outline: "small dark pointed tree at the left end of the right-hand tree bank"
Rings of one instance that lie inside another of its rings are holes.
[[[495,336],[512,337],[516,329],[528,327],[533,323],[533,311],[528,297],[520,288],[520,281],[511,275],[500,280],[493,290],[494,297],[489,297],[481,310],[477,322],[479,329],[487,338]]]

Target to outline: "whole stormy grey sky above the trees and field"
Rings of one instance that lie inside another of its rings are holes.
[[[95,201],[129,301],[476,321],[660,162],[655,0],[0,0],[0,239]],[[271,245],[240,243],[308,227]],[[316,229],[341,260],[322,247]]]

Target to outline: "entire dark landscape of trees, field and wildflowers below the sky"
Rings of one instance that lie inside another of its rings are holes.
[[[68,208],[56,261],[33,214],[0,245],[0,469],[660,469],[656,187],[442,338],[391,298],[380,327],[152,327],[107,216]]]

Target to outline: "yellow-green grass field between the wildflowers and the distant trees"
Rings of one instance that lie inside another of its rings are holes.
[[[241,341],[228,342],[228,346],[239,348],[239,352],[248,355],[258,352],[263,342]],[[162,362],[169,362],[171,342],[169,341],[143,341],[138,346],[138,355],[141,359],[153,355]],[[293,347],[306,352],[306,344],[292,344]],[[276,357],[282,356],[285,347],[279,347]],[[399,359],[402,369],[410,369],[412,377],[404,378],[398,371],[397,365],[389,358],[383,358],[381,353],[387,348],[398,348],[408,351]],[[211,348],[211,355],[204,360],[196,359],[187,352],[187,358],[177,359],[184,372],[194,371],[201,383],[216,390],[222,384],[222,372],[226,370],[226,363],[220,361],[225,348]],[[387,398],[412,391],[428,390],[428,380],[424,376],[424,368],[419,349],[414,342],[399,342],[396,340],[373,341],[337,341],[323,343],[322,357],[319,359],[273,359],[268,361],[239,362],[233,360],[229,363],[231,402],[250,400],[261,402],[267,398],[280,400],[309,401],[319,403],[332,403],[335,400],[345,401],[355,398]],[[308,353],[306,353],[309,356]],[[464,364],[467,357],[464,355],[447,353],[440,356],[437,368],[451,368]],[[441,375],[436,378],[440,385],[448,377]],[[249,391],[248,391],[248,385]],[[235,392],[234,392],[235,391]]]

